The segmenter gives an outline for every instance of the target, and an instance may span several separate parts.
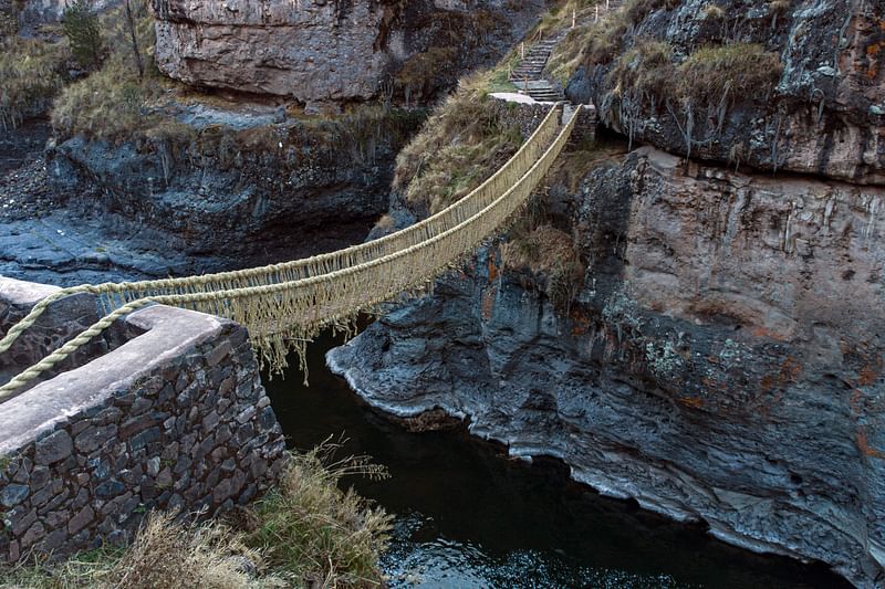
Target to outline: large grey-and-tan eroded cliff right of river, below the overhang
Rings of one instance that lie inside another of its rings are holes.
[[[468,417],[603,493],[881,587],[885,190],[683,164],[643,148],[565,202],[587,267],[568,312],[492,248],[330,365],[388,412]]]

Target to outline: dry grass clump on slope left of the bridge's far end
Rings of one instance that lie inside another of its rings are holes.
[[[462,80],[399,152],[394,188],[418,212],[461,199],[519,149],[519,127],[488,97],[489,80],[489,72]]]

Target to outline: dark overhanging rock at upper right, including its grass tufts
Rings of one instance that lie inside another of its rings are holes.
[[[885,183],[879,0],[632,7],[623,35],[589,51],[566,91],[603,123],[673,154]],[[737,50],[709,51],[720,45]]]

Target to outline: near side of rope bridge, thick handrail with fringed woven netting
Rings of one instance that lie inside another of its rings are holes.
[[[303,367],[304,345],[320,330],[389,301],[398,293],[424,286],[442,271],[452,267],[459,259],[512,218],[525,204],[565,146],[577,119],[576,115],[577,112],[548,150],[503,194],[454,228],[404,250],[323,275],[129,302],[0,387],[0,400],[65,359],[118,317],[152,302],[190,306],[238,320],[249,328],[252,345],[262,353],[261,358],[272,369],[285,367],[285,354],[290,349],[299,351]],[[281,325],[285,317],[290,318],[290,323]]]

